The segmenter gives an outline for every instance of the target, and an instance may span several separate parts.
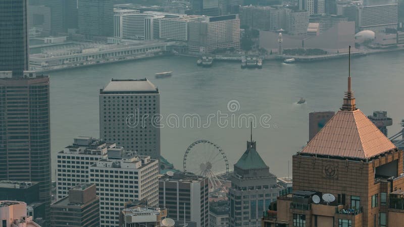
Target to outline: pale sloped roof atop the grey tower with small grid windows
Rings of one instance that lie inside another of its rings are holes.
[[[158,93],[159,89],[146,78],[144,79],[112,79],[111,82],[102,89],[102,92],[144,92]]]

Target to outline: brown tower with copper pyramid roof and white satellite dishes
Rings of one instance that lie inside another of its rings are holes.
[[[293,192],[263,226],[401,226],[402,155],[357,108],[348,77],[340,110],[293,155]]]

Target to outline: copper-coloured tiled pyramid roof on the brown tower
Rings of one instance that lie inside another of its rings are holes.
[[[396,148],[360,110],[340,110],[301,151],[366,159]]]

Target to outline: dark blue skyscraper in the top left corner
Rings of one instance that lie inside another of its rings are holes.
[[[28,0],[0,1],[0,71],[22,77],[29,69]]]

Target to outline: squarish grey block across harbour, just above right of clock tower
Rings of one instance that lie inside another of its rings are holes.
[[[286,18],[286,31],[290,35],[306,35],[309,11],[291,11]]]

